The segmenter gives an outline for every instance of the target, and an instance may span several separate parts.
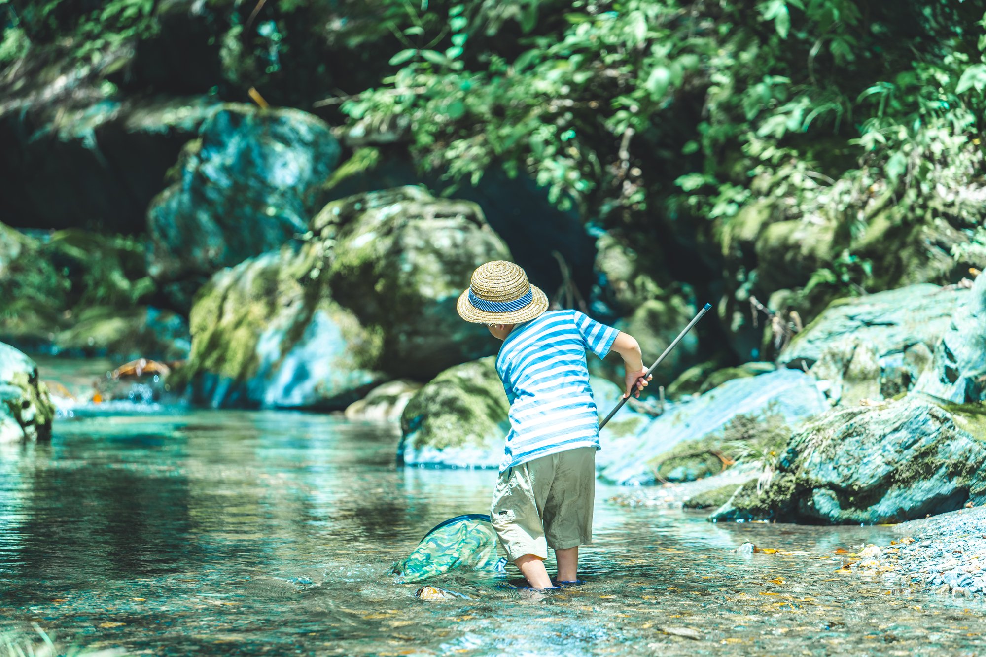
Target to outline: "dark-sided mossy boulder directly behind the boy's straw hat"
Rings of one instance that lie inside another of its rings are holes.
[[[329,203],[313,231],[331,245],[333,298],[380,331],[392,376],[428,379],[497,349],[456,312],[477,266],[510,259],[476,204],[397,187]]]

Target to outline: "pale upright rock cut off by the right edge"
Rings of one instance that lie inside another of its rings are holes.
[[[986,275],[963,296],[916,390],[956,403],[986,401]]]

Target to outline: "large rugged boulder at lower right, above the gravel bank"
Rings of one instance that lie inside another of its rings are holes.
[[[982,504],[984,420],[913,395],[833,409],[791,439],[762,492],[748,483],[712,517],[895,523]]]

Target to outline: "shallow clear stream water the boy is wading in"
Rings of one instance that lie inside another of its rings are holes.
[[[495,474],[398,469],[396,442],[300,412],[58,420],[0,454],[0,631],[168,654],[980,654],[981,601],[820,558],[887,528],[714,525],[602,485],[589,584],[536,599],[457,575],[432,583],[472,600],[417,599],[387,567],[486,512]],[[732,551],[747,540],[811,554]]]

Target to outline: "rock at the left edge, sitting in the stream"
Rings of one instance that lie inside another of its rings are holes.
[[[0,342],[0,442],[47,439],[54,406],[35,361]]]

